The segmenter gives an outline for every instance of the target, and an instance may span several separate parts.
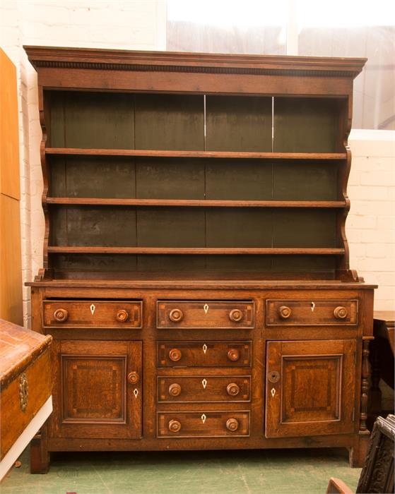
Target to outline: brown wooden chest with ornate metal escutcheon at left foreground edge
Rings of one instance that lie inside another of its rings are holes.
[[[49,335],[0,320],[0,460],[51,396],[51,342]]]

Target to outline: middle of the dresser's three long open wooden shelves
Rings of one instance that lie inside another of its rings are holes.
[[[93,206],[158,207],[329,207],[346,206],[343,200],[189,200],[189,199],[107,199],[47,198],[47,204]]]

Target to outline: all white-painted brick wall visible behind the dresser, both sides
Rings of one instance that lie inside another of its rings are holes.
[[[17,67],[23,280],[42,266],[41,130],[37,77],[23,44],[165,49],[166,0],[0,0],[0,45]],[[347,221],[350,264],[380,285],[376,308],[395,310],[395,138],[393,131],[353,131]],[[25,325],[30,293],[23,291]]]

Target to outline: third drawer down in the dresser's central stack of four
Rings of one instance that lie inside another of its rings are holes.
[[[249,375],[160,376],[158,402],[249,402]]]

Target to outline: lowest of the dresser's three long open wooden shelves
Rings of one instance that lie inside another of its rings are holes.
[[[55,247],[52,254],[189,254],[189,255],[343,255],[343,248],[249,248],[249,247]]]

